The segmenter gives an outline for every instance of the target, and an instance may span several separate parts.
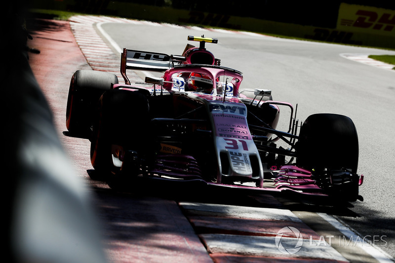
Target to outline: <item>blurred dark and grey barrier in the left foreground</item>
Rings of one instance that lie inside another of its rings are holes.
[[[2,16],[3,192],[7,262],[105,263],[89,191],[75,176],[28,62],[27,2]]]

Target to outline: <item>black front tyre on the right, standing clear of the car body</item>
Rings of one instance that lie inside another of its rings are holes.
[[[329,113],[309,116],[296,150],[298,165],[312,170],[321,188],[336,198],[356,200],[358,136],[349,117]]]

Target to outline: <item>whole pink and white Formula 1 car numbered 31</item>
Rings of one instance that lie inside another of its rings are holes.
[[[205,48],[217,39],[188,40],[199,47],[188,44],[177,56],[123,49],[125,84],[105,72],[73,75],[66,125],[91,141],[93,179],[114,188],[148,178],[362,199],[349,117],[319,113],[300,125],[294,107],[274,101],[271,90],[239,89],[242,73]],[[130,83],[127,70],[164,74]],[[276,129],[281,107],[290,109],[285,131]]]

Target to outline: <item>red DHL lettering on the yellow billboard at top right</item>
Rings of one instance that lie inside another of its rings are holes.
[[[379,17],[379,14],[374,11],[358,10],[356,15],[359,17],[353,23],[350,19],[341,19],[342,26],[353,26],[358,28],[372,28],[374,30],[392,31],[395,26],[395,15],[384,13]]]

